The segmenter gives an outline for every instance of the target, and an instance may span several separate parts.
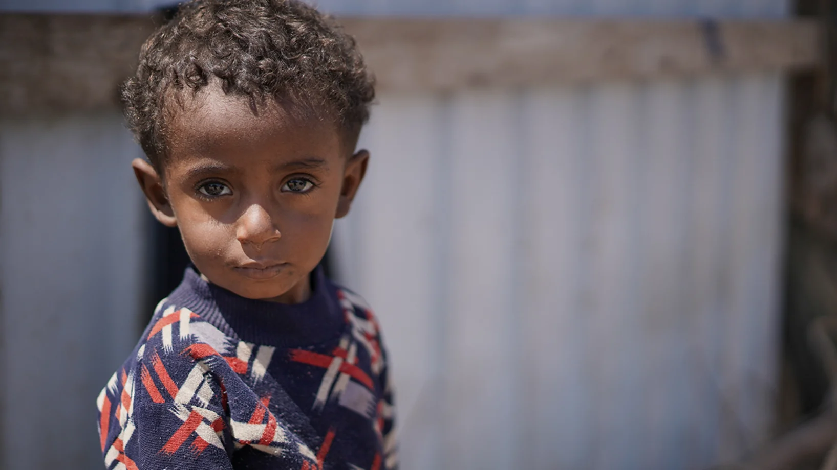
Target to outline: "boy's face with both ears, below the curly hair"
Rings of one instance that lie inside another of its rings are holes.
[[[330,121],[204,88],[168,126],[165,178],[133,163],[151,207],[198,270],[239,296],[295,303],[366,171]]]

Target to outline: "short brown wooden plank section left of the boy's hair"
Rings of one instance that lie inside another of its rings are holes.
[[[0,14],[0,116],[115,109],[151,18]]]

